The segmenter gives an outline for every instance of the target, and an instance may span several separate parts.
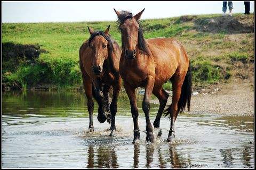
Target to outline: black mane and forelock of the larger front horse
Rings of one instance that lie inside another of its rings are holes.
[[[127,19],[132,19],[133,18],[133,14],[130,11],[121,11],[119,16],[118,16],[118,20],[116,21],[117,24],[121,24],[123,23],[125,20]],[[139,24],[139,33],[138,33],[138,46],[139,46],[139,50],[142,53],[145,53],[147,55],[150,55],[149,52],[149,48],[146,44],[145,38],[143,37],[143,30],[142,30],[142,24],[140,20],[137,20],[138,24]],[[122,48],[123,48],[123,40],[122,40]]]

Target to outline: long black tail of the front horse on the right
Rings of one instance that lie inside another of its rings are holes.
[[[192,87],[192,76],[191,76],[191,67],[189,62],[188,71],[181,88],[180,99],[178,101],[177,114],[184,111],[186,107],[186,103],[188,107],[188,112],[190,111],[190,99],[191,99],[191,91],[192,91],[191,87]],[[170,115],[171,117],[171,105],[167,109],[165,109],[164,114],[165,116]]]

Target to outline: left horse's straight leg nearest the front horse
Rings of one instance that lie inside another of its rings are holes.
[[[113,137],[116,131],[117,97],[121,89],[121,84],[122,84],[121,77],[119,77],[114,83],[113,97],[110,104],[110,112],[111,112],[111,126],[110,126],[111,133],[109,134],[110,137]]]

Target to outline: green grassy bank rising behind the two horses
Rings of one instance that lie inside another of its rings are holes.
[[[174,37],[179,40],[191,60],[193,85],[206,86],[228,81],[234,76],[248,77],[248,67],[251,68],[254,61],[254,39],[250,30],[204,29],[209,26],[209,19],[220,17],[218,14],[193,15],[142,20],[142,23],[145,38]],[[253,14],[235,14],[234,19],[246,19],[249,23],[254,20]],[[121,45],[121,33],[114,21],[2,24],[4,86],[12,89],[26,89],[38,84],[50,84],[54,88],[82,86],[78,51],[90,37],[87,25],[94,30],[105,30],[109,24],[111,37]],[[26,50],[22,55],[22,45],[34,45],[40,51],[39,55],[28,58]],[[19,50],[13,49],[18,47]],[[243,69],[247,72],[238,75]],[[164,87],[171,89],[171,84],[166,83]]]

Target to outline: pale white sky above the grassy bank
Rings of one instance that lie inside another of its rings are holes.
[[[234,13],[244,13],[243,1],[233,1],[233,6]],[[250,12],[254,12],[253,1],[250,2],[250,7]],[[141,19],[156,19],[181,15],[222,13],[222,1],[4,1],[2,2],[2,23],[115,21],[117,16],[113,8],[131,11],[133,15],[145,8]]]

